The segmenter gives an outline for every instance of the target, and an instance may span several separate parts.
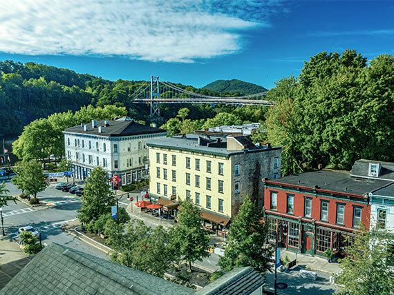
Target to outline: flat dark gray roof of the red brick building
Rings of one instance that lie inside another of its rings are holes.
[[[349,172],[346,171],[329,171],[321,170],[315,172],[304,172],[285,176],[280,179],[270,179],[277,183],[287,183],[291,185],[300,185],[310,187],[317,185],[322,190],[331,190],[346,194],[357,194],[363,196],[372,192],[379,187],[386,185],[386,181],[371,179],[353,179]]]

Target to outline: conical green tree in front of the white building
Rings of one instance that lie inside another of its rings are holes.
[[[111,206],[115,205],[115,199],[111,198],[108,175],[102,167],[95,167],[91,176],[86,179],[82,206],[77,211],[81,223],[88,224],[97,221],[100,216],[111,212]]]

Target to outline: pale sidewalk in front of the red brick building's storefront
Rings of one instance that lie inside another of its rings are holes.
[[[310,269],[317,270],[319,272],[326,272],[328,274],[336,274],[341,272],[339,269],[338,263],[328,263],[326,258],[321,257],[312,257],[306,254],[295,254],[286,249],[281,250],[281,258],[283,259],[286,255],[290,258],[290,261],[293,261],[297,257],[297,266]]]

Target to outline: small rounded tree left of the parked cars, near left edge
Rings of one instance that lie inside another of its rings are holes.
[[[44,181],[45,175],[42,173],[41,163],[21,161],[17,163],[15,172],[17,176],[12,179],[12,183],[15,183],[22,192],[32,194],[35,198],[48,186],[48,183]]]

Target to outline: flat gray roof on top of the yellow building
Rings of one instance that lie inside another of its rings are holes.
[[[256,146],[245,138],[245,136],[235,136],[238,141],[247,144],[249,150],[252,152],[262,152],[268,150],[266,148],[256,148]],[[186,134],[184,136],[173,136],[163,139],[153,139],[147,141],[147,145],[156,148],[172,148],[175,150],[186,150],[191,152],[201,152],[203,154],[216,154],[219,156],[230,156],[232,154],[241,154],[243,151],[227,150],[226,139],[221,136],[211,136],[210,139],[200,136],[201,141],[214,141],[216,138],[221,138],[221,143],[209,143],[209,145],[198,144],[198,136],[196,134]],[[254,149],[252,148],[252,145]],[[276,150],[281,148],[271,148]]]

